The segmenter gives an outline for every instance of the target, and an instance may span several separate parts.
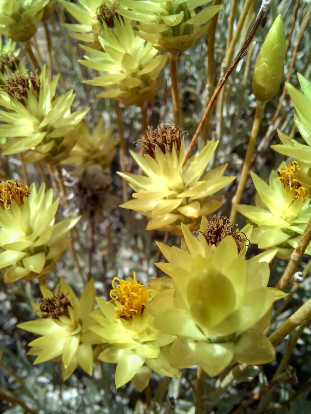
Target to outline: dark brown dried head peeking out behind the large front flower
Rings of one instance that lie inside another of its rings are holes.
[[[237,224],[233,224],[229,221],[228,217],[225,216],[214,216],[209,221],[207,229],[205,231],[195,230],[193,233],[202,233],[207,244],[212,244],[217,246],[221,240],[227,236],[232,236],[238,246],[238,252],[241,251],[241,243],[247,242],[247,246],[250,244],[250,241],[245,236],[242,231],[234,230],[234,227],[237,227]],[[241,234],[244,236],[241,237]]]

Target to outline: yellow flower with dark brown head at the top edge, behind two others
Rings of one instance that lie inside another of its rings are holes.
[[[100,48],[97,36],[100,34],[102,23],[107,22],[108,27],[113,26],[115,10],[119,3],[109,0],[79,0],[79,4],[59,0],[66,10],[79,22],[79,24],[63,24],[66,29],[73,30],[69,33],[73,39],[92,43],[92,48]]]

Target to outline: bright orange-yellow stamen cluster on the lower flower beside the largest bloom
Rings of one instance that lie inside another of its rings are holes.
[[[114,301],[121,303],[121,306],[116,309],[115,318],[131,320],[134,315],[141,316],[145,303],[149,299],[149,291],[152,289],[147,289],[147,286],[137,282],[135,272],[133,274],[134,278],[129,280],[118,277],[112,279],[112,290],[109,296]],[[115,286],[115,282],[119,282],[119,284]]]

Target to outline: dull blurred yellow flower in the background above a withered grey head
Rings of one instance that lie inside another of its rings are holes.
[[[87,122],[80,122],[72,132],[78,136],[78,142],[62,164],[73,164],[81,168],[99,164],[102,168],[110,168],[117,152],[118,140],[112,135],[113,125],[102,131],[102,124],[101,118],[91,135]]]

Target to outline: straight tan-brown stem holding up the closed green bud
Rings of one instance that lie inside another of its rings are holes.
[[[252,161],[252,156],[253,156],[253,152],[255,148],[256,138],[258,136],[260,123],[261,123],[263,112],[265,109],[265,104],[266,104],[265,102],[257,101],[253,128],[252,128],[252,131],[250,132],[250,140],[248,142],[248,147],[247,147],[244,164],[243,164],[243,168],[241,172],[241,178],[238,183],[236,194],[232,199],[232,208],[231,208],[231,214],[229,218],[231,223],[234,223],[236,220],[236,214],[237,214],[236,205],[240,203],[241,197],[242,197],[242,194],[245,188],[245,184],[246,184],[247,177],[248,177],[248,171],[250,169],[250,163]]]

